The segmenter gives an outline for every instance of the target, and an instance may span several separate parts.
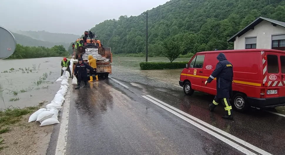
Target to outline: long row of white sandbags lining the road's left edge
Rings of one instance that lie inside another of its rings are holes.
[[[73,59],[70,60],[71,65],[69,66],[72,70],[72,64]],[[56,81],[61,81],[61,87],[56,92],[55,97],[51,101],[50,104],[47,104],[45,108],[41,108],[38,111],[34,112],[30,118],[29,122],[40,122],[40,126],[46,126],[46,125],[52,125],[59,123],[58,121],[58,112],[62,108],[62,104],[65,100],[64,96],[66,95],[66,92],[68,91],[68,79],[70,78],[70,75],[68,72],[66,72],[65,75],[58,78]]]

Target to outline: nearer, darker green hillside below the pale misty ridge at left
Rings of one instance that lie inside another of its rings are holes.
[[[21,34],[17,34],[12,32],[17,44],[21,44],[23,46],[43,46],[43,47],[53,47],[54,45],[63,45],[66,49],[68,49],[68,46],[70,45],[70,42],[65,43],[65,42],[45,42],[45,41],[41,41],[38,39],[33,39],[31,37],[25,36],[25,35],[21,35]],[[74,42],[74,41],[73,41]]]

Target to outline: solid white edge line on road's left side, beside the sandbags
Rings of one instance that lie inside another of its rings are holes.
[[[63,155],[66,152],[70,93],[71,93],[71,90],[67,92],[66,97],[65,97],[66,100],[64,101],[64,105],[63,105],[63,112],[62,112],[60,129],[58,133],[55,155]]]

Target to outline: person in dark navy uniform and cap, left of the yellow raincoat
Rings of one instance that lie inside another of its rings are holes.
[[[91,66],[83,62],[82,58],[78,58],[78,63],[75,65],[73,75],[77,78],[77,87],[75,89],[80,88],[81,81],[85,84],[83,87],[87,87],[87,69],[93,70]]]

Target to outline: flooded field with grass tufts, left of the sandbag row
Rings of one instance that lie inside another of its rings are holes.
[[[50,102],[60,83],[61,57],[0,60],[0,108]]]

